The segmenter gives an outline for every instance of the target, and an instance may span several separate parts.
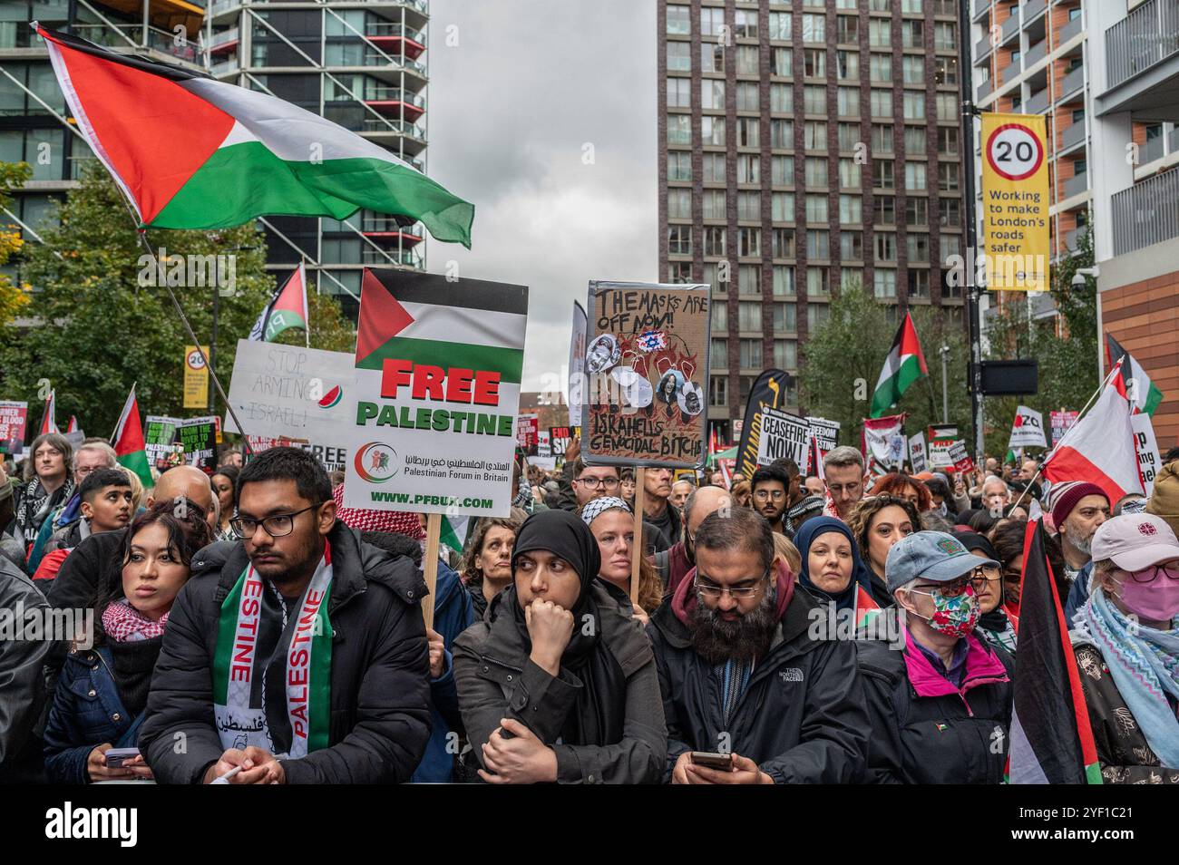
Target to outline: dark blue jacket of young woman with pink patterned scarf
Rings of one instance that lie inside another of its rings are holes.
[[[130,718],[107,648],[71,649],[45,727],[45,772],[55,784],[88,784],[86,759],[97,745],[133,748],[144,715]]]

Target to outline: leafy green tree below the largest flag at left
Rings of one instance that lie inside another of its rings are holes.
[[[25,250],[25,273],[37,286],[24,310],[35,324],[0,332],[0,392],[39,402],[38,382],[57,390],[58,416],[78,415],[92,435],[108,435],[133,382],[144,414],[195,415],[183,409],[183,352],[191,339],[137,240],[136,220],[110,176],[88,166],[59,207],[59,224]],[[253,223],[219,231],[147,232],[172,269],[185,256],[232,256],[232,290],[173,288],[197,337],[208,343],[218,298],[216,367],[229,385],[237,339],[250,332],[274,291],[265,240]],[[224,259],[226,263],[230,259]],[[187,282],[185,277],[183,282]],[[151,283],[151,284],[145,284]],[[224,405],[217,401],[217,411]]]

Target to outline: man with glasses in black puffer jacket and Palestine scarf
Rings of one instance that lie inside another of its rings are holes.
[[[430,718],[413,561],[338,522],[323,465],[298,448],[242,469],[230,524],[242,540],[193,556],[169,618],[139,733],[156,779],[407,780]]]

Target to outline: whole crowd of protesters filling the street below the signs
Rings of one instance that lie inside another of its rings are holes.
[[[0,614],[74,623],[0,640],[0,779],[997,784],[1040,520],[1104,779],[1179,783],[1179,453],[1109,501],[1033,460],[640,474],[574,440],[518,454],[433,595],[424,515],[222,460],[144,489],[47,434],[0,470]]]

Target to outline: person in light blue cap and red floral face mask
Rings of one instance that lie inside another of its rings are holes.
[[[1000,784],[1012,720],[1013,661],[975,630],[979,587],[999,572],[944,531],[915,531],[889,550],[896,602],[877,633],[903,632],[904,651],[857,640],[871,722],[870,783]]]

